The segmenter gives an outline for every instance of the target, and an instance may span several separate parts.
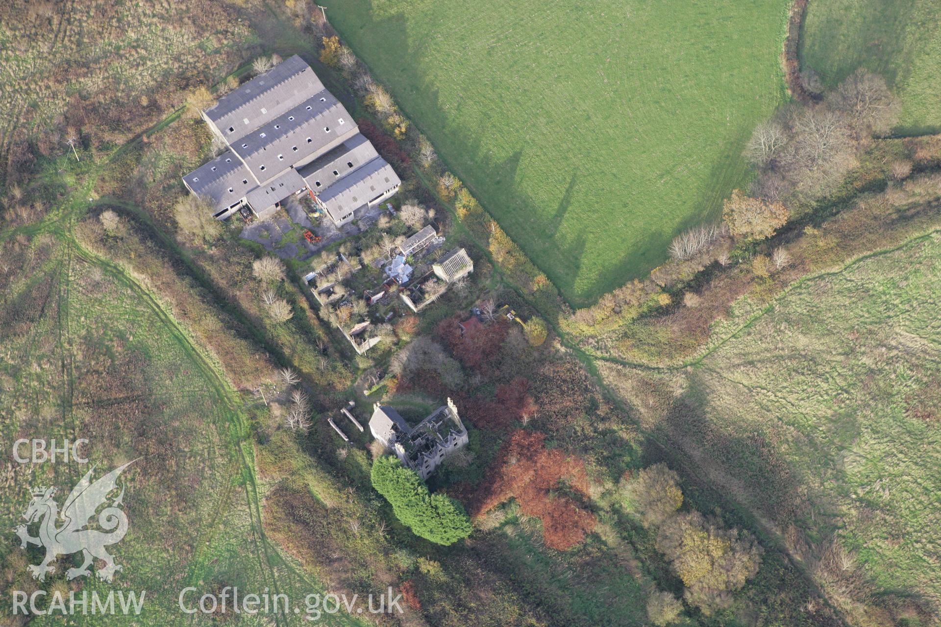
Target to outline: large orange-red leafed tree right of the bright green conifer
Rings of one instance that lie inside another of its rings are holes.
[[[587,494],[584,463],[561,450],[545,447],[538,431],[513,431],[487,478],[470,498],[470,513],[480,516],[508,498],[519,510],[542,520],[543,537],[550,548],[564,551],[595,528],[595,516],[570,497],[559,494],[562,479],[576,492]]]

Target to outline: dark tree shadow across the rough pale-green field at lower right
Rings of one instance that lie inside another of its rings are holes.
[[[761,584],[742,594],[781,624],[807,624],[806,603],[822,593],[804,568],[814,563],[838,521],[820,511],[811,520],[806,480],[779,455],[774,434],[732,432],[711,420],[702,402],[694,393],[676,400],[643,444],[641,462],[663,462],[678,473],[684,508],[754,534],[765,548],[755,579]]]

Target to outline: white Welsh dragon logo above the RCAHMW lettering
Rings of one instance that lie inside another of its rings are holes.
[[[115,564],[114,556],[111,556],[104,547],[120,542],[127,533],[127,515],[120,509],[124,489],[121,488],[120,494],[111,505],[98,514],[98,525],[104,531],[85,527],[89,524],[88,520],[95,515],[95,511],[107,504],[108,493],[118,487],[117,481],[121,472],[134,462],[127,462],[115,468],[93,483],[91,473],[95,467],[92,466],[85,477],[72,488],[69,497],[65,499],[61,513],[53,499],[56,488],[43,487],[32,490],[33,499],[29,502],[29,507],[26,508],[23,517],[27,525],[40,522],[39,537],[30,536],[26,525],[19,525],[14,531],[20,537],[22,548],[26,548],[26,544],[29,543],[46,549],[46,556],[40,564],[30,564],[27,567],[29,572],[32,572],[33,579],[45,581],[47,572],[56,572],[56,567],[50,564],[56,561],[57,556],[71,555],[81,551],[84,558],[82,565],[66,571],[66,578],[74,579],[90,574],[88,566],[91,565],[92,559],[98,558],[104,561],[104,568],[96,572],[98,578],[111,582],[115,572],[120,571],[121,567]],[[63,521],[61,526],[56,526],[58,519]]]

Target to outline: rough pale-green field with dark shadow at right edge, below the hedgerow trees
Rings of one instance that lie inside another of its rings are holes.
[[[635,406],[639,382],[668,382],[673,404],[648,426],[857,619],[884,611],[855,604],[867,598],[895,619],[941,613],[939,279],[934,231],[805,279],[690,368],[604,367]],[[726,329],[754,311],[737,308]],[[921,617],[896,624],[936,624]]]

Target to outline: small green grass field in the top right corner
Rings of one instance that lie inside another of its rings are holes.
[[[903,102],[899,133],[941,131],[941,13],[933,0],[812,0],[802,68],[836,86],[856,68],[885,76]]]

